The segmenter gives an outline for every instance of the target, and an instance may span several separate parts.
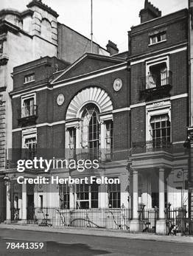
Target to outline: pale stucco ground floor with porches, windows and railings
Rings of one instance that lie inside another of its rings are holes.
[[[183,225],[185,229],[189,224],[181,221],[179,227],[179,218],[192,220],[193,217],[185,185],[187,168],[138,165],[134,169],[134,165],[125,164],[116,162],[82,173],[9,170],[6,221],[159,234],[166,234],[172,225],[178,229]]]

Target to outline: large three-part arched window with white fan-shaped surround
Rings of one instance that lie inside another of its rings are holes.
[[[66,111],[67,158],[113,160],[112,111],[110,97],[101,88],[91,86],[74,96]]]

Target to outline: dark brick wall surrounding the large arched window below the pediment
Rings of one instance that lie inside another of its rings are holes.
[[[117,78],[122,79],[122,89],[118,92],[113,90],[113,81]],[[130,105],[129,94],[129,72],[122,70],[119,72],[112,72],[108,75],[95,77],[90,80],[85,80],[80,83],[74,83],[69,86],[61,86],[53,90],[42,90],[36,92],[36,104],[38,105],[38,119],[37,124],[45,122],[58,122],[66,118],[66,111],[72,98],[84,88],[90,86],[99,86],[108,93],[113,102],[113,109],[125,108]],[[65,101],[63,105],[57,105],[57,95],[63,93]],[[21,106],[21,98],[13,98],[13,128],[18,128],[18,108]],[[128,148],[129,145],[129,116],[128,112],[119,112],[113,114],[114,122],[114,146],[117,150]],[[27,128],[27,127],[26,127]],[[13,133],[13,145],[15,148],[21,146],[21,131],[20,136]],[[39,154],[47,156],[50,152],[56,157],[64,155],[65,148],[65,125],[53,125],[51,127],[44,125],[37,128],[38,149]],[[46,152],[46,149],[48,151]],[[52,150],[50,150],[52,149]],[[51,152],[52,151],[52,152]]]

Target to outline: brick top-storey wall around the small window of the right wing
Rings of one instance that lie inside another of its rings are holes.
[[[150,32],[156,32],[166,29],[166,41],[161,44],[150,44]],[[180,10],[177,13],[163,16],[161,18],[149,21],[145,24],[133,27],[131,30],[131,55],[138,55],[153,52],[172,44],[178,44],[187,41],[187,12]]]

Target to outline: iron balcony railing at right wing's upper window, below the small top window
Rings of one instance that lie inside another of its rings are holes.
[[[172,85],[172,72],[165,71],[147,75],[142,79],[142,91],[147,89],[156,89],[160,86]]]

